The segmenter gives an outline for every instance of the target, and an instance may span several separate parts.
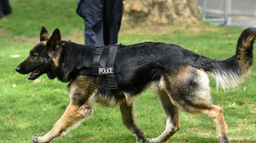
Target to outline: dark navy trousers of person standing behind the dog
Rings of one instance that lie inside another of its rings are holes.
[[[116,44],[124,12],[123,0],[81,1],[85,45]]]

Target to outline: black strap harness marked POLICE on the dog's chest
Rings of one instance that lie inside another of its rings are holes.
[[[73,77],[77,77],[83,74],[92,74],[92,75],[107,75],[107,81],[110,91],[114,95],[124,95],[123,92],[121,92],[120,88],[117,85],[116,82],[116,76],[115,76],[115,59],[116,59],[116,52],[118,47],[122,46],[122,43],[116,44],[116,45],[109,45],[109,46],[97,46],[95,49],[94,55],[93,55],[93,64],[90,68],[83,68],[78,71],[76,71],[73,75]],[[108,54],[108,62],[106,63],[106,67],[100,66],[101,61],[101,55],[103,49],[109,48],[109,54]]]

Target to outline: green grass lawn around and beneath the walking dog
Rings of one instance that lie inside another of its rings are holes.
[[[69,104],[67,84],[42,75],[27,81],[15,67],[39,42],[39,30],[49,32],[60,28],[64,40],[83,43],[83,19],[76,13],[76,1],[10,0],[12,15],[0,19],[0,142],[29,143],[31,136],[46,134]],[[180,45],[209,58],[234,55],[242,28],[215,27],[122,27],[119,42],[124,45],[144,41]],[[256,62],[256,59],[254,59]],[[245,83],[225,92],[215,89],[211,78],[213,103],[224,109],[232,143],[256,142],[256,68]],[[44,109],[44,110],[43,110]],[[46,110],[45,110],[46,109]],[[143,93],[136,103],[136,119],[146,138],[154,138],[165,129],[165,115],[151,90]],[[213,121],[202,115],[180,114],[181,129],[169,143],[217,143]],[[94,116],[83,121],[53,143],[130,143],[132,134],[122,125],[120,109],[94,104]]]

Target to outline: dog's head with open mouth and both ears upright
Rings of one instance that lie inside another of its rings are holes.
[[[56,28],[50,36],[43,26],[40,32],[40,42],[30,50],[29,57],[16,67],[20,74],[29,74],[28,80],[35,80],[42,74],[50,79],[57,76],[60,67],[61,36]]]

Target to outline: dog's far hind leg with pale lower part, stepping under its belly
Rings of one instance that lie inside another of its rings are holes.
[[[180,129],[179,109],[172,104],[170,97],[165,91],[157,88],[155,89],[155,93],[158,95],[161,106],[166,115],[166,128],[160,136],[153,139],[146,139],[146,142],[162,143],[169,140],[171,136]]]

